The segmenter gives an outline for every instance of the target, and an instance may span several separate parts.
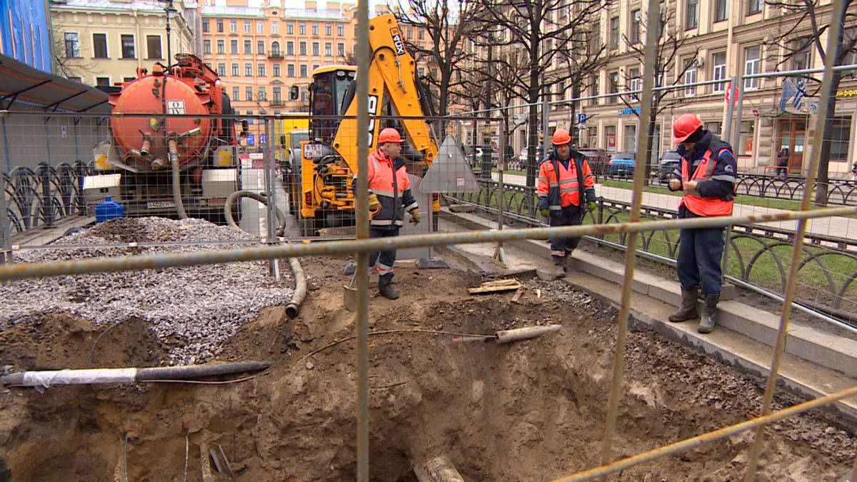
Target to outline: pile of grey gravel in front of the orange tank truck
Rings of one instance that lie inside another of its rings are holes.
[[[255,239],[206,220],[123,218],[75,232],[55,244],[195,242]],[[133,248],[25,250],[16,262],[51,262],[105,256],[152,255],[226,250],[252,244],[198,244]],[[291,270],[280,263],[282,280],[268,274],[268,262],[238,262],[163,271],[84,274],[20,280],[0,286],[0,330],[49,313],[70,313],[110,325],[130,318],[151,324],[171,348],[171,364],[193,364],[217,355],[220,345],[262,308],[286,304],[292,295]]]

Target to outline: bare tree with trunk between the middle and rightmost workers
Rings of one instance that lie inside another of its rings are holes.
[[[666,7],[662,2],[661,9],[656,18],[658,19],[656,25],[658,29],[658,41],[655,45],[655,87],[662,87],[664,85],[668,74],[676,71],[676,63],[678,63],[680,69],[676,72],[673,82],[669,85],[680,86],[686,83],[686,74],[691,69],[696,68],[695,62],[699,56],[699,48],[698,46],[690,47],[686,45],[690,38],[686,36],[684,29],[676,21],[674,4],[672,7]],[[647,29],[648,26],[643,25],[641,22],[639,39],[645,39]],[[628,39],[626,35],[623,36],[623,41],[628,45],[628,50],[633,53],[634,57],[638,58],[642,65],[645,58],[645,45],[639,39]],[[643,87],[643,81],[639,77],[641,71],[642,69],[637,69],[637,77],[632,77],[626,73],[626,86],[633,87],[629,88],[629,90],[639,90]],[[673,109],[677,105],[686,104],[688,96],[695,95],[697,88],[686,87],[683,93],[679,89],[656,90],[652,93],[649,118],[640,119],[639,123],[641,129],[643,128],[643,124],[646,124],[645,165],[642,166],[644,172],[650,172],[652,166],[651,154],[655,141],[657,118],[664,111]],[[620,96],[620,99],[635,116],[640,116],[638,109],[635,108],[639,105],[638,93],[628,93]],[[661,142],[661,140],[657,139],[657,142]],[[644,178],[643,184],[646,186],[649,185],[648,176]]]

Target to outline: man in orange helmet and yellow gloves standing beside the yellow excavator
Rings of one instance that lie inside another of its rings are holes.
[[[419,206],[411,194],[411,180],[405,171],[405,159],[399,157],[405,142],[399,131],[393,128],[381,130],[378,148],[369,153],[369,238],[399,236],[399,228],[405,225],[405,211],[411,213],[411,223],[420,222]],[[357,173],[351,182],[351,190],[357,190]],[[396,250],[369,253],[369,268],[378,271],[378,291],[389,299],[399,298],[394,290],[393,263]]]

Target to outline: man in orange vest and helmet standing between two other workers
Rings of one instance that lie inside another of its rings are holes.
[[[536,195],[538,208],[550,226],[579,226],[586,209],[596,208],[595,177],[586,156],[570,146],[565,129],[554,131],[554,152],[539,166]],[[585,199],[585,203],[584,203]],[[567,262],[580,238],[551,238],[550,257],[557,278],[566,276]]]

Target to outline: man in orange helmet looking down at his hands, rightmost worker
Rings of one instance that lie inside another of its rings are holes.
[[[683,190],[679,218],[728,216],[732,214],[735,159],[732,146],[723,142],[693,114],[682,114],[673,124],[673,142],[679,144],[682,160],[669,180],[669,190]],[[720,299],[723,228],[682,229],[677,261],[681,282],[681,308],[669,316],[670,322],[697,318],[699,289],[705,300],[699,333],[714,330],[717,301]]]

